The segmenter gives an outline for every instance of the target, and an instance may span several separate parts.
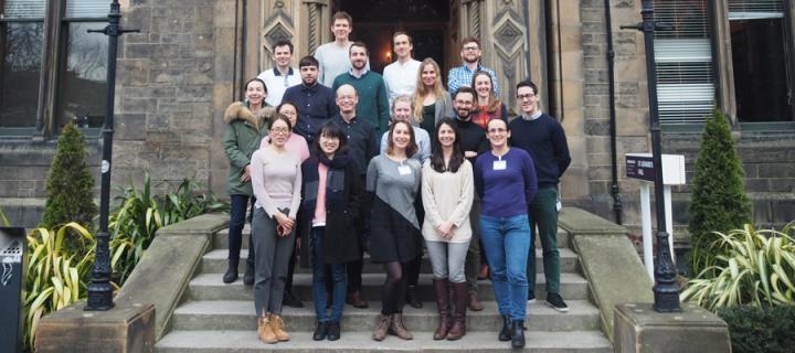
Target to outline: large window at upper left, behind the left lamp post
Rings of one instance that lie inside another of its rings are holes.
[[[87,30],[106,25],[109,4],[0,0],[0,136],[51,138],[75,117],[102,126],[108,40]]]

